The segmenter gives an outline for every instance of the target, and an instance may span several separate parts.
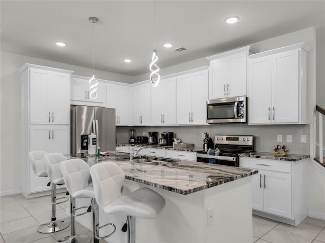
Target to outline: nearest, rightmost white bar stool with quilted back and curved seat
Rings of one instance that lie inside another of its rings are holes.
[[[107,214],[127,215],[127,242],[136,242],[136,218],[154,219],[165,207],[165,199],[155,191],[143,187],[121,196],[125,179],[123,170],[114,162],[102,162],[90,167],[96,201]]]

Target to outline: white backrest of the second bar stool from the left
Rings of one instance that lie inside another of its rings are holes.
[[[59,163],[67,160],[66,156],[60,153],[47,153],[43,155],[43,159],[50,180],[53,182],[59,178],[62,178]]]

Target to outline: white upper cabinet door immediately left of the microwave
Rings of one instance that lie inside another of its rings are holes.
[[[207,124],[208,71],[193,74],[192,123]]]

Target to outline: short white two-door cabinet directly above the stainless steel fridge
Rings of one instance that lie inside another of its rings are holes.
[[[88,77],[77,75],[71,76],[71,104],[81,106],[105,107],[106,103],[106,83],[100,82],[97,85],[97,98],[90,97],[90,85]]]

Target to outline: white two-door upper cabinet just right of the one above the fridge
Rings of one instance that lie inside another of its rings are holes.
[[[131,86],[119,84],[106,84],[106,107],[115,108],[116,125],[132,125],[132,90]]]

